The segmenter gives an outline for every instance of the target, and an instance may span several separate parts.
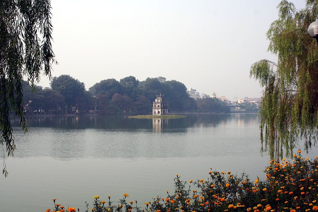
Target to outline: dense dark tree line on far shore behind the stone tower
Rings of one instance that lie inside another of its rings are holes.
[[[152,101],[162,93],[169,112],[228,112],[219,99],[196,101],[187,94],[187,88],[176,80],[164,77],[147,78],[139,82],[133,76],[120,81],[104,79],[85,89],[83,82],[70,75],[53,77],[50,88],[23,83],[24,108],[29,113],[151,113]]]

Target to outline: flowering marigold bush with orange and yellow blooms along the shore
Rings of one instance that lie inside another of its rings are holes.
[[[318,160],[301,157],[301,151],[293,155],[293,161],[281,163],[270,161],[265,168],[265,180],[251,181],[245,173],[233,175],[231,172],[209,172],[209,178],[189,182],[182,181],[179,175],[174,178],[175,191],[167,197],[159,196],[137,206],[137,201],[127,202],[124,194],[118,204],[113,204],[94,196],[94,212],[214,212],[214,211],[316,211],[318,210]],[[195,189],[191,189],[194,187]],[[64,207],[55,204],[55,211],[64,212]],[[63,208],[62,208],[63,207]],[[50,211],[49,209],[47,212]],[[67,211],[75,211],[69,208]],[[78,209],[79,211],[79,209]],[[86,212],[89,211],[86,203]]]

